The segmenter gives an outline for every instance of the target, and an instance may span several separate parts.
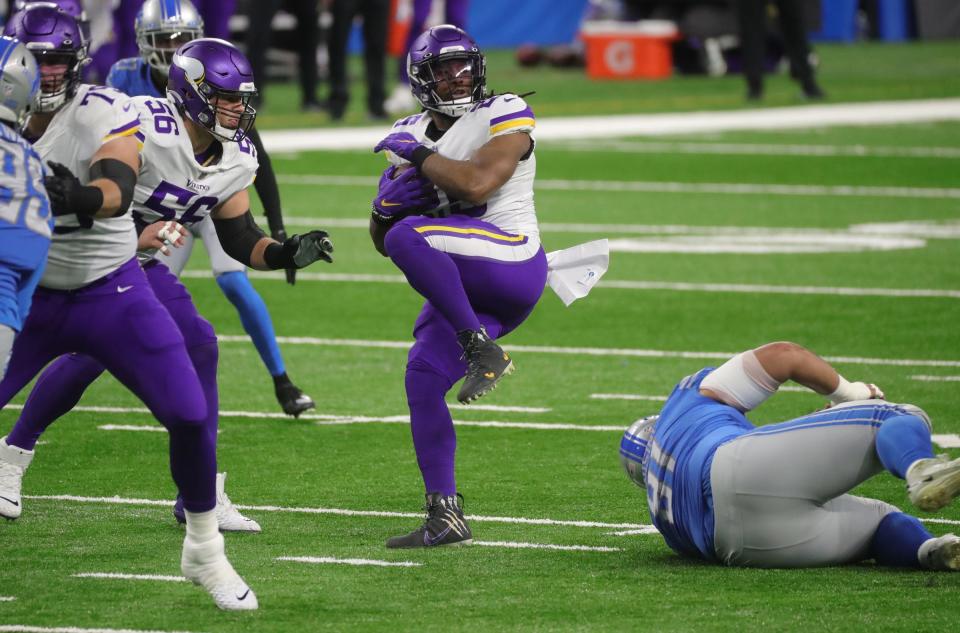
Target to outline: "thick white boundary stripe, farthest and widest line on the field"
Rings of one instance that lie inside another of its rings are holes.
[[[536,108],[536,105],[534,105]],[[836,103],[714,112],[623,114],[537,119],[540,141],[702,134],[739,130],[785,130],[830,126],[890,125],[960,119],[960,100],[925,99]],[[268,130],[263,143],[272,153],[371,149],[389,125],[338,129]]]

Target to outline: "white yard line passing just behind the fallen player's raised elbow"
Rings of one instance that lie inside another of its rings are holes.
[[[220,335],[221,343],[249,343],[247,336]],[[408,341],[376,341],[369,339],[331,339],[312,336],[278,336],[277,341],[288,345],[317,345],[321,347],[362,347],[370,349],[407,350],[412,343]],[[693,360],[727,360],[735,352],[675,351],[657,349],[633,349],[615,347],[556,347],[550,345],[504,345],[504,349],[530,354],[563,354],[573,356],[614,356],[628,358],[686,358]],[[907,359],[907,358],[870,358],[862,356],[825,356],[831,363],[850,363],[854,365],[889,365],[894,367],[960,367],[960,360]]]

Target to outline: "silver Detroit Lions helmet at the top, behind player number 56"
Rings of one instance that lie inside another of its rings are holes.
[[[166,75],[174,51],[203,37],[203,18],[190,0],[146,0],[133,28],[140,58]]]

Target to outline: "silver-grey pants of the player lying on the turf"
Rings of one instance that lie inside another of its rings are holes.
[[[880,521],[898,510],[845,493],[884,470],[877,430],[904,413],[882,400],[851,402],[721,446],[710,469],[721,562],[816,567],[868,558]]]

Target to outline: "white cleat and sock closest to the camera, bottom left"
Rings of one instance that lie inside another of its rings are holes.
[[[252,611],[260,605],[257,596],[227,560],[223,535],[206,543],[183,540],[180,571],[187,580],[200,585],[224,611]]]

